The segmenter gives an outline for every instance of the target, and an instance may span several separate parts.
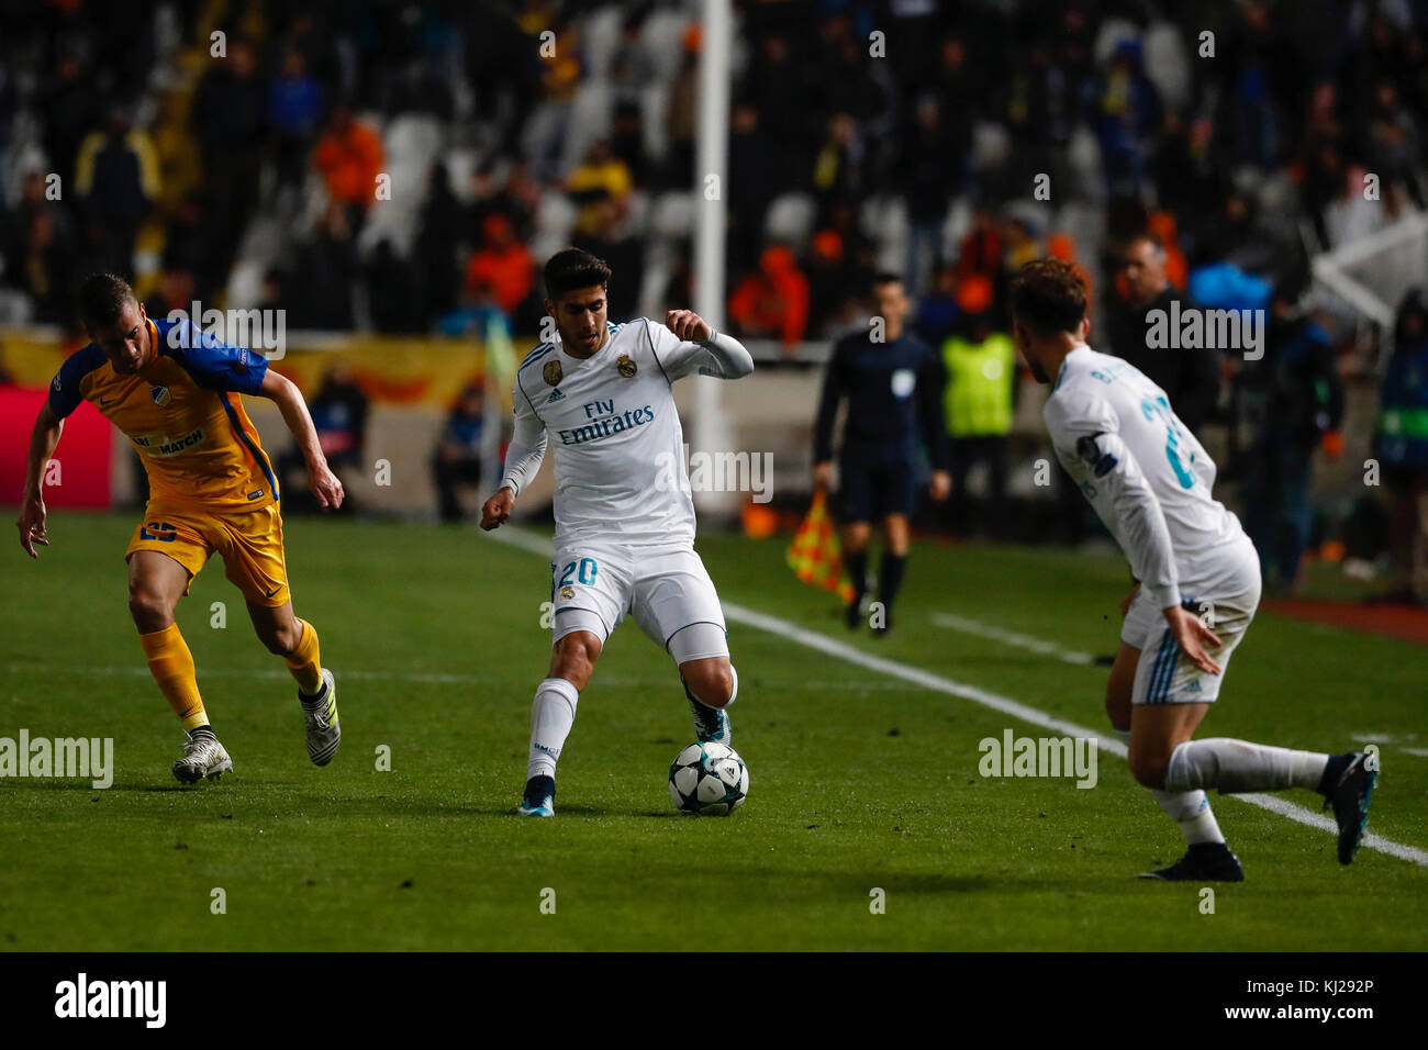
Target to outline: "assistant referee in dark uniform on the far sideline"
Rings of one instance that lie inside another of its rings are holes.
[[[827,491],[833,481],[833,429],[840,401],[848,399],[843,447],[838,460],[843,497],[843,557],[853,577],[854,597],[848,604],[850,629],[863,623],[867,590],[868,539],[873,523],[883,523],[883,563],[878,571],[881,616],[871,617],[873,630],[885,634],[892,627],[897,600],[907,567],[908,516],[917,501],[920,449],[925,446],[932,464],[928,491],[945,500],[951,490],[947,473],[947,431],[942,427],[945,373],[937,353],[907,331],[907,293],[892,273],[873,279],[873,300],[881,326],[840,339],[824,373],[818,420],[814,427],[813,481]]]

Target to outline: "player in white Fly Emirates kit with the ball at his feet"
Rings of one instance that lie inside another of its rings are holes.
[[[555,337],[516,373],[506,476],[481,509],[483,529],[501,526],[554,446],[554,649],[531,706],[517,810],[530,817],[555,813],[555,763],[580,693],[625,613],[678,666],[700,740],[730,741],[724,709],[738,694],[718,593],[694,553],[673,383],[695,373],[740,379],[754,359],[691,310],[671,310],[664,324],[611,324],[608,286],[610,267],[587,251],[565,249],[545,264]]]

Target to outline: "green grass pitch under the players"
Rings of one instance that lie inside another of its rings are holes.
[[[288,520],[296,607],[338,681],[327,769],[307,761],[281,660],[210,563],[178,621],[236,770],[183,789],[169,771],[181,731],[126,610],[131,527],[60,513],[39,563],[7,556],[0,737],[113,737],[116,760],[109,790],[0,780],[9,950],[1428,947],[1425,867],[1361,850],[1341,869],[1328,833],[1212,796],[1247,881],[1217,887],[1207,914],[1198,886],[1134,879],[1182,844],[1120,759],[1100,756],[1092,790],[981,777],[984,737],[1051,733],[738,623],[740,811],[673,810],[667,770],[693,727],[668,657],[627,621],[581,697],[555,820],[516,817],[548,560],[476,530]],[[877,640],[793,579],[785,544],[711,534],[698,549],[728,603],[1105,726],[1104,667],[932,616],[1110,653],[1120,560],[920,544],[897,630]],[[1371,830],[1428,849],[1422,667],[1421,647],[1264,613],[1201,734],[1377,741]]]

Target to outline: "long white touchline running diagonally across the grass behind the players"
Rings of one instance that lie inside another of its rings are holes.
[[[550,559],[553,551],[553,544],[548,539],[527,533],[520,529],[498,529],[490,533],[491,539],[508,543],[514,547],[521,547],[533,554],[540,554],[544,559]],[[780,637],[788,639],[790,641],[797,641],[808,649],[815,649],[820,653],[827,653],[828,656],[835,656],[840,660],[847,660],[848,663],[855,663],[861,667],[870,670],[881,671],[890,674],[895,679],[902,679],[914,686],[921,686],[922,689],[931,689],[938,693],[947,693],[950,696],[961,697],[962,700],[971,700],[974,704],[981,704],[982,707],[990,707],[994,711],[1001,711],[1002,714],[1010,714],[1014,719],[1030,723],[1032,726],[1041,726],[1042,729],[1057,730],[1065,736],[1085,737],[1095,740],[1095,746],[1105,751],[1107,754],[1114,754],[1118,759],[1124,759],[1125,744],[1120,740],[1107,740],[1100,737],[1095,730],[1087,729],[1085,726],[1078,726],[1074,721],[1067,721],[1065,719],[1057,719],[1047,714],[1035,707],[1028,707],[1024,703],[1012,700],[1011,697],[1000,696],[991,693],[985,689],[978,689],[977,686],[968,686],[961,681],[954,681],[952,679],[945,679],[941,674],[932,674],[931,671],[924,671],[921,667],[912,667],[910,664],[902,664],[895,660],[888,660],[881,656],[873,656],[871,653],[864,653],[860,649],[854,649],[845,641],[837,641],[817,631],[805,630],[797,624],[788,623],[787,620],[780,620],[775,616],[768,616],[765,613],[757,613],[753,609],[744,609],[743,606],[735,606],[731,601],[724,601],[724,614],[738,623],[747,624],[750,627],[758,627],[771,634],[778,634]],[[1231,794],[1230,799],[1238,799],[1250,806],[1258,806],[1269,813],[1278,813],[1281,817],[1288,817],[1307,827],[1317,827],[1324,831],[1338,831],[1338,827],[1328,817],[1315,813],[1314,810],[1307,810],[1302,806],[1295,806],[1294,803],[1284,801],[1278,796],[1271,794]],[[1365,834],[1362,847],[1368,850],[1377,850],[1378,853],[1387,853],[1389,857],[1398,857],[1399,860],[1407,860],[1412,864],[1421,867],[1428,867],[1428,850],[1419,850],[1415,846],[1404,846],[1402,843],[1395,843],[1377,834]]]

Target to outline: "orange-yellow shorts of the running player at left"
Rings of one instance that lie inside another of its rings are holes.
[[[151,501],[144,507],[144,520],[134,529],[124,560],[136,550],[167,554],[188,570],[190,581],[217,551],[223,556],[224,574],[250,603],[276,609],[288,600],[283,516],[276,503],[233,514],[207,514]]]

